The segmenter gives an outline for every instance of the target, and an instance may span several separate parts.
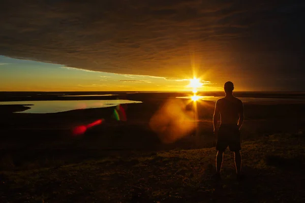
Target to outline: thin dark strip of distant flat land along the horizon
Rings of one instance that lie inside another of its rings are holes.
[[[65,95],[63,96],[63,94]],[[71,92],[58,92],[52,94],[37,94],[37,92],[0,92],[0,101],[39,101],[39,100],[112,100],[112,99],[128,99],[146,101],[151,98],[165,99],[169,97],[190,96],[191,92],[94,92],[95,94],[117,94],[111,96],[86,96],[92,95],[93,92],[79,92],[84,96],[78,96]],[[199,96],[224,96],[224,92],[199,92]],[[235,92],[236,97],[254,97],[254,98],[286,98],[286,99],[303,99],[305,93],[265,93],[265,92]],[[151,97],[151,98],[147,98]]]

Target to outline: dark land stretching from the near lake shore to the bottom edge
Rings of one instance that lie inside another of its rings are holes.
[[[235,181],[226,151],[216,183],[215,103],[200,103],[196,130],[164,144],[149,120],[168,97],[128,95],[143,103],[122,105],[126,121],[115,118],[114,107],[53,114],[0,107],[0,202],[305,201],[304,104],[245,104],[246,179]],[[72,133],[98,119],[85,133]]]

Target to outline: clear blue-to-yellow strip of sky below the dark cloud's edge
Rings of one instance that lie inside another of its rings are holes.
[[[0,56],[0,91],[191,91],[188,79],[114,74]],[[201,91],[219,91],[201,80]],[[209,90],[206,90],[206,89]]]

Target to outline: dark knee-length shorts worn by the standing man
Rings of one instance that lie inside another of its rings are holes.
[[[225,151],[228,146],[231,152],[241,150],[240,132],[237,125],[222,124],[218,130],[216,150]]]

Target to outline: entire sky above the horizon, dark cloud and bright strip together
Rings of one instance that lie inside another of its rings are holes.
[[[11,1],[0,91],[304,91],[304,1]]]

